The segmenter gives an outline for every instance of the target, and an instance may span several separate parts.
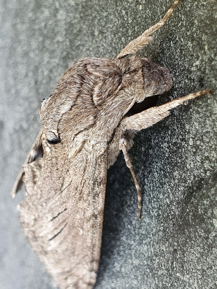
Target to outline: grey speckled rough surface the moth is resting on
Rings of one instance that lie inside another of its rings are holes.
[[[170,0],[1,0],[0,288],[56,289],[19,224],[10,190],[38,133],[41,100],[81,58],[115,58]],[[216,88],[215,0],[186,0],[140,55],[169,68],[166,102]],[[216,288],[216,94],[174,109],[130,150],[143,221],[122,155],[108,171],[95,289]]]

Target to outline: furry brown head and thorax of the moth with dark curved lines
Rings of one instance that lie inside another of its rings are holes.
[[[109,142],[132,107],[171,87],[168,70],[146,58],[80,60],[41,103],[45,138],[71,155],[86,142]]]

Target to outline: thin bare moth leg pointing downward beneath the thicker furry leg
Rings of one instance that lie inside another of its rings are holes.
[[[141,221],[141,208],[142,208],[142,196],[141,196],[141,189],[139,186],[139,183],[137,181],[136,175],[134,173],[133,170],[133,165],[131,162],[131,158],[130,155],[128,153],[128,149],[127,149],[127,141],[126,138],[124,136],[122,136],[122,138],[120,138],[119,140],[119,149],[122,150],[123,154],[124,154],[124,159],[126,162],[126,166],[130,169],[130,172],[132,174],[136,189],[137,189],[137,196],[138,196],[138,218]]]

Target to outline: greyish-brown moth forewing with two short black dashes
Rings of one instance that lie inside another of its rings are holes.
[[[61,289],[90,289],[100,259],[107,150],[68,157],[62,144],[26,164],[25,236]]]

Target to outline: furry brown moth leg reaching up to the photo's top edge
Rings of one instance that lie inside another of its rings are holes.
[[[155,25],[148,28],[146,31],[143,32],[139,37],[130,41],[130,43],[121,51],[121,53],[116,57],[116,59],[120,59],[128,54],[135,54],[139,50],[141,50],[145,45],[152,42],[152,34],[156,32],[159,28],[161,28],[170,15],[173,13],[176,6],[179,4],[180,0],[175,0],[173,2],[172,7],[166,12],[163,18],[156,23]]]

